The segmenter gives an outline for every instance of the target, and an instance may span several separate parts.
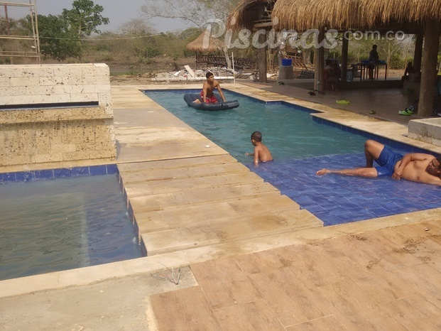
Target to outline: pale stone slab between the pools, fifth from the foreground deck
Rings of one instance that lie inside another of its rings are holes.
[[[227,173],[249,173],[249,168],[241,163],[200,165],[178,169],[138,170],[136,172],[120,172],[124,187],[131,183],[146,183],[151,180],[174,180],[179,178],[196,178]]]

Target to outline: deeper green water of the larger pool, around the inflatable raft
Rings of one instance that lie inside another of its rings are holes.
[[[183,93],[146,92],[169,112],[227,150],[238,161],[252,161],[251,134],[261,131],[263,143],[277,161],[337,153],[358,153],[366,139],[311,120],[310,112],[282,104],[265,104],[248,97],[224,92],[238,99],[239,107],[207,112],[187,107]]]

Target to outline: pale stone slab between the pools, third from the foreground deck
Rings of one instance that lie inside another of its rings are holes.
[[[135,215],[147,210],[163,210],[166,207],[197,205],[222,200],[240,200],[246,197],[280,195],[269,183],[257,182],[244,185],[229,185],[222,188],[200,188],[181,190],[156,195],[130,197],[130,207]]]

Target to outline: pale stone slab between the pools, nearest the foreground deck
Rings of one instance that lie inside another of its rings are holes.
[[[205,222],[194,227],[141,234],[147,254],[183,251],[200,246],[249,238],[263,238],[285,232],[322,227],[320,219],[307,210],[269,211],[263,215],[232,217],[222,222]],[[263,239],[264,240],[264,239]]]

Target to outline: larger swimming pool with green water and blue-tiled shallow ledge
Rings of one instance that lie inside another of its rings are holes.
[[[391,178],[315,175],[321,168],[364,166],[363,147],[368,138],[402,153],[420,152],[418,148],[317,119],[310,115],[312,110],[283,102],[259,102],[226,91],[227,99],[239,100],[238,108],[203,112],[187,107],[183,100],[185,93],[195,90],[144,92],[322,219],[325,225],[441,207],[441,189],[433,185]],[[255,167],[252,158],[244,156],[253,151],[253,131],[262,132],[263,142],[276,161]]]

